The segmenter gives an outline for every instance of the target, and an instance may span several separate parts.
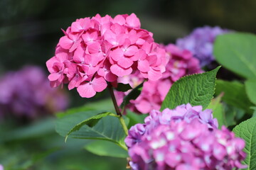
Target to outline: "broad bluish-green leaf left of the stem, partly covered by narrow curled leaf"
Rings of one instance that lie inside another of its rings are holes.
[[[66,115],[56,121],[55,130],[61,136],[66,137],[68,132],[76,125],[81,123],[81,120],[90,119],[92,116],[97,115],[99,111],[83,111],[79,113],[73,113],[72,115]],[[114,142],[126,149],[124,145],[124,137],[126,137],[118,118],[113,116],[106,116],[101,118],[98,123],[90,128],[87,125],[83,125],[79,130],[71,132],[69,137],[79,139],[92,139],[92,140],[108,140]]]

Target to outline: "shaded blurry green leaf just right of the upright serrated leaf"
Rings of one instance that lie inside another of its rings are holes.
[[[252,114],[250,106],[253,106],[253,104],[245,94],[245,85],[238,81],[217,80],[215,94],[219,95],[222,92],[224,92],[222,99],[225,103],[241,108],[246,113]]]

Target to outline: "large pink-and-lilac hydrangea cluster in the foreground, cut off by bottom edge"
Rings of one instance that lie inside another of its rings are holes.
[[[190,104],[151,111],[125,139],[133,170],[231,170],[245,168],[245,142],[218,122],[210,110]]]

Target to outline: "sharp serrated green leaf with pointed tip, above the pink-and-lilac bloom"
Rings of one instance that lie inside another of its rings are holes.
[[[182,77],[174,82],[166,98],[164,98],[161,110],[176,108],[176,106],[186,103],[191,103],[192,106],[201,105],[206,108],[213,98],[218,69],[220,67],[210,72]]]

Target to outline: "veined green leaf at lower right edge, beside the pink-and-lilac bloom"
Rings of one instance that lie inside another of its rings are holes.
[[[247,157],[243,164],[247,164],[247,170],[256,169],[256,118],[250,118],[233,129],[235,136],[245,140],[244,151]]]

